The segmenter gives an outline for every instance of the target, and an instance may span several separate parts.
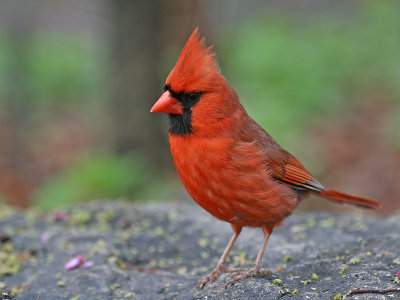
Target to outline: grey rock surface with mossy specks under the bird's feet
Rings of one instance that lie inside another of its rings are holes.
[[[400,288],[398,215],[292,216],[267,246],[262,265],[272,275],[225,289],[231,275],[224,274],[200,291],[197,280],[215,266],[232,231],[199,207],[94,202],[63,219],[2,208],[0,290],[18,300],[341,299],[358,288]],[[245,229],[229,265],[250,266],[261,241],[260,229]],[[65,270],[78,254],[93,266]],[[346,297],[400,299],[400,292]]]

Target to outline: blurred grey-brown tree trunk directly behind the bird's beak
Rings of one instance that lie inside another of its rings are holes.
[[[117,153],[144,155],[153,166],[169,161],[165,116],[151,114],[161,95],[162,1],[113,0],[112,144]]]

